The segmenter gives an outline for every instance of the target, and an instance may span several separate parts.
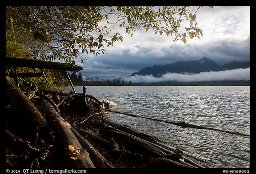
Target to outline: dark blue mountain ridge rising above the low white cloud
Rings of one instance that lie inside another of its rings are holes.
[[[248,68],[251,66],[251,62],[231,62],[220,66],[216,62],[209,58],[203,57],[200,60],[193,60],[187,62],[176,62],[167,65],[154,65],[152,67],[146,67],[142,70],[132,73],[131,76],[135,75],[153,75],[154,77],[161,77],[166,73],[200,73],[209,71],[224,71],[233,70],[237,68]]]

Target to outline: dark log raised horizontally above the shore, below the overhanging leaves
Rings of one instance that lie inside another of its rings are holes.
[[[65,71],[80,71],[84,67],[77,66],[71,63],[60,63],[60,62],[50,62],[43,60],[27,59],[27,58],[5,58],[6,66],[21,66],[28,68],[45,68],[45,69],[56,69]]]

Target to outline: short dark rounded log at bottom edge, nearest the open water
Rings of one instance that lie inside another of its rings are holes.
[[[190,166],[181,164],[180,162],[173,161],[165,158],[154,158],[147,162],[148,168],[192,168]]]

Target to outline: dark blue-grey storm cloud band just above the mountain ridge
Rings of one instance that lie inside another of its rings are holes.
[[[211,45],[173,44],[162,48],[136,46],[139,54],[131,54],[130,50],[124,49],[118,54],[107,52],[104,55],[88,58],[84,63],[84,71],[90,74],[115,74],[120,77],[129,77],[144,67],[199,60],[204,56],[219,65],[233,61],[244,62],[250,60],[249,40],[249,38],[243,41],[220,40]]]

